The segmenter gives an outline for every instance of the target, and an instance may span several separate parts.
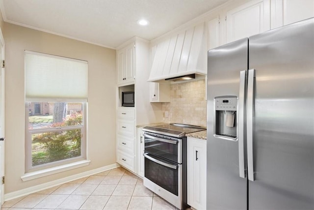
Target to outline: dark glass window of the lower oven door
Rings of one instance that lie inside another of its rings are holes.
[[[154,157],[158,160],[162,158]],[[179,165],[180,167],[180,165]],[[153,181],[158,186],[178,196],[178,171],[177,169],[168,168],[152,160],[145,158],[145,178]]]

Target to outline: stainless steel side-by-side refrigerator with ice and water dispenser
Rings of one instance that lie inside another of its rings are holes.
[[[314,19],[209,50],[208,210],[314,210]]]

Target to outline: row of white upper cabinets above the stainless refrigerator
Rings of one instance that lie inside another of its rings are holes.
[[[230,1],[209,15],[208,50],[312,17],[314,0]]]

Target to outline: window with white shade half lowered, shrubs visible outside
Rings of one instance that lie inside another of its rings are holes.
[[[26,172],[86,159],[87,62],[25,51]]]

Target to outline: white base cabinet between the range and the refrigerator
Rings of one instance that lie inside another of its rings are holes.
[[[187,204],[206,210],[206,140],[187,137]]]

